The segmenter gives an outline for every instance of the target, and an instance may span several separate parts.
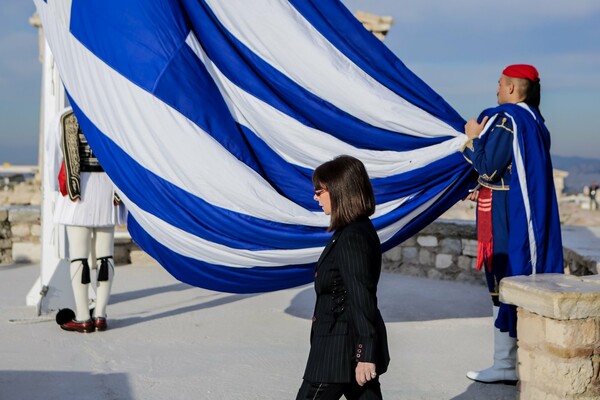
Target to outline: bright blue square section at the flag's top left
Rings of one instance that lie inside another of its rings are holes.
[[[133,83],[153,91],[190,28],[177,0],[73,0],[70,31]]]

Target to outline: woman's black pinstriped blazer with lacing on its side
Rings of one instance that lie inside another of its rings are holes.
[[[356,362],[389,364],[387,334],[377,308],[381,246],[368,217],[337,230],[315,269],[317,301],[304,379],[349,383]]]

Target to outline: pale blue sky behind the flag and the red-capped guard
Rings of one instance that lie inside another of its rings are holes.
[[[502,68],[534,64],[552,153],[600,158],[600,1],[343,0],[390,15],[385,43],[469,119],[495,105]],[[33,2],[0,5],[0,163],[37,163],[40,71]]]

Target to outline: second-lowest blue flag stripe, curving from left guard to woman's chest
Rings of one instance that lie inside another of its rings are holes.
[[[146,212],[185,232],[236,249],[301,249],[327,243],[330,234],[323,228],[254,218],[181,190],[139,165],[98,130],[74,99],[69,100],[104,170],[125,196]]]

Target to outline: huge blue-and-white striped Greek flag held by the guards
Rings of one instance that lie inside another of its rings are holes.
[[[372,179],[384,250],[464,197],[464,120],[338,0],[35,0],[132,238],[217,291],[310,282],[312,171]]]

